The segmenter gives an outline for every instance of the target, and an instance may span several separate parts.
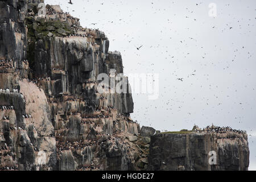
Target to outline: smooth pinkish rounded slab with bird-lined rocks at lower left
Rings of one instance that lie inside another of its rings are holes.
[[[19,86],[20,93],[0,92],[0,105],[12,106],[0,110],[0,135],[5,133],[1,135],[3,141],[0,145],[7,144],[6,150],[1,150],[0,154],[13,154],[11,162],[2,162],[1,165],[19,170],[54,169],[56,140],[46,96],[43,90],[25,79],[19,81]],[[5,122],[3,117],[7,117]]]

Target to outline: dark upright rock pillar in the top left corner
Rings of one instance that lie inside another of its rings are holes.
[[[27,53],[27,0],[0,1],[0,10],[0,60],[14,59],[15,68],[19,68]]]

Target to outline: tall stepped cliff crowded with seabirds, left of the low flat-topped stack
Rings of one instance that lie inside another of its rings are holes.
[[[104,32],[81,27],[43,0],[0,1],[0,10],[0,170],[163,169],[154,162],[162,161],[156,152],[170,150],[161,148],[166,135],[130,118],[130,93],[98,90],[101,73],[111,77],[115,69],[126,79],[122,56],[108,50]],[[184,147],[184,136],[175,143]],[[227,143],[233,152],[237,144]],[[236,164],[246,169],[246,162]]]

